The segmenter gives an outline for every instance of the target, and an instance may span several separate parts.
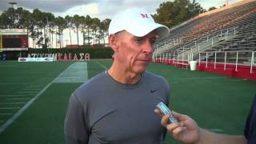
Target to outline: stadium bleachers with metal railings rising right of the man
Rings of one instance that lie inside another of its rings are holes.
[[[154,59],[188,65],[189,61],[226,62],[255,68],[256,1],[243,0],[199,14],[170,29],[170,37],[155,45]],[[169,61],[168,61],[169,60]],[[178,61],[178,62],[175,62]],[[226,70],[226,67],[225,67]],[[255,77],[256,78],[256,77]]]

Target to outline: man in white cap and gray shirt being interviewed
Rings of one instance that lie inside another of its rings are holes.
[[[109,26],[113,65],[71,95],[64,127],[67,143],[163,144],[166,129],[154,107],[169,104],[170,87],[146,67],[156,38],[168,34],[146,10],[114,16]]]

